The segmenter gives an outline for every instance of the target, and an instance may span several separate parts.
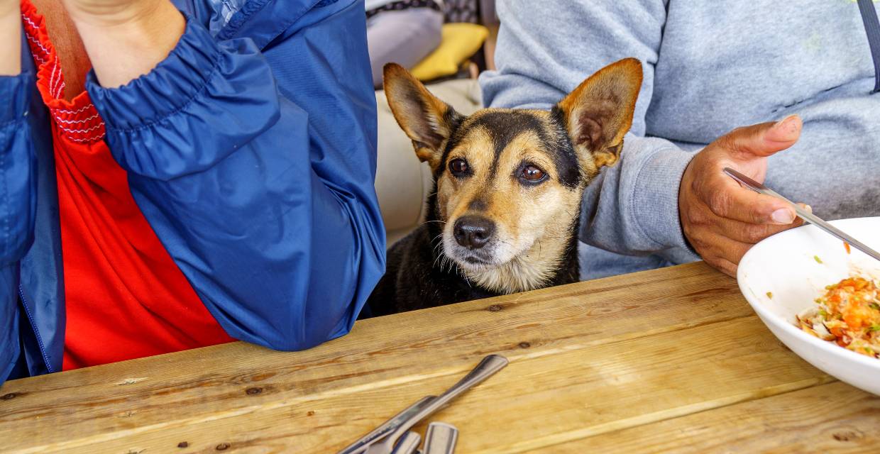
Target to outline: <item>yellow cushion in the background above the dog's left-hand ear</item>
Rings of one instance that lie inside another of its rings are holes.
[[[413,76],[420,80],[431,80],[457,73],[461,63],[480,50],[488,35],[489,30],[485,26],[444,24],[440,46],[415,65]]]

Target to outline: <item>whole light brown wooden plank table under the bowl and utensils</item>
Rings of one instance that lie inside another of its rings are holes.
[[[334,452],[490,353],[510,365],[433,418],[459,453],[880,446],[880,398],[792,354],[697,263],[365,320],[305,352],[237,342],[11,381],[0,451]]]

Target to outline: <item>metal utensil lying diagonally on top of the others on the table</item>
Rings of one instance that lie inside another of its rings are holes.
[[[473,370],[461,380],[458,380],[457,384],[453,384],[450,389],[437,396],[436,399],[431,399],[427,405],[422,406],[421,410],[411,416],[407,421],[400,424],[391,435],[386,436],[381,442],[370,444],[370,449],[367,450],[367,454],[391,454],[394,444],[397,443],[400,436],[407,433],[410,428],[413,428],[414,425],[418,424],[440,408],[446,406],[446,404],[452,399],[457,398],[462,392],[466,392],[474,385],[480,384],[483,380],[494,375],[498,370],[502,370],[507,363],[507,358],[502,355],[486,356],[480,361],[480,364],[477,364],[477,367],[473,368]]]

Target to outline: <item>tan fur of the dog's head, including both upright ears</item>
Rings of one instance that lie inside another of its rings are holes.
[[[601,167],[613,165],[620,156],[641,84],[642,66],[633,59],[598,71],[558,104],[565,123],[560,128],[560,121],[546,111],[483,109],[461,117],[406,70],[386,66],[385,92],[392,113],[413,140],[416,156],[436,177],[437,215],[444,223],[441,254],[468,280],[497,293],[546,286],[561,267],[584,188]],[[495,143],[481,121],[496,114],[530,115],[538,130],[524,129],[506,143]],[[569,142],[579,166],[576,185],[561,183],[561,175],[554,173],[558,150],[547,146]],[[466,179],[444,168],[457,158],[466,160],[473,172]],[[538,166],[548,178],[535,186],[522,184],[515,173],[524,162]],[[490,264],[469,263],[457,255],[461,248],[453,237],[453,224],[467,215],[495,222],[497,244]]]

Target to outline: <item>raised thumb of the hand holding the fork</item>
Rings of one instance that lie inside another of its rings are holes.
[[[768,157],[794,145],[801,136],[801,128],[801,117],[789,115],[775,123],[760,123],[734,129],[723,135],[719,142],[723,148],[741,159]]]

